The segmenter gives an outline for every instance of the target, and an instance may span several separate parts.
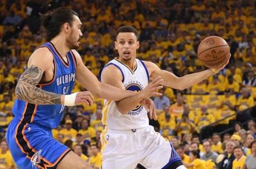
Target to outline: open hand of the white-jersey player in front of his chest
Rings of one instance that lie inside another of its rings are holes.
[[[161,93],[156,92],[157,90],[163,88],[160,83],[163,81],[161,76],[158,76],[155,80],[151,81],[145,89],[141,91],[141,94],[144,95],[144,98],[150,98],[151,96],[161,96]]]

